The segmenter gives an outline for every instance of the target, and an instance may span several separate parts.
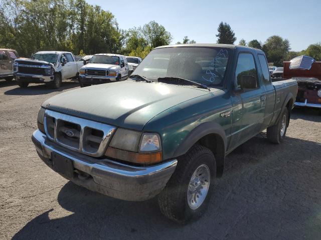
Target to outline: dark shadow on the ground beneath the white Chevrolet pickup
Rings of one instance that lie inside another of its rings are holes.
[[[16,88],[5,91],[5,94],[6,95],[40,95],[40,94],[48,94],[54,91],[59,92],[59,91],[63,91],[69,88],[77,87],[77,86],[79,86],[79,83],[72,82],[72,81],[63,82],[59,89],[51,89],[46,84],[31,85],[26,88],[22,88],[17,85]]]

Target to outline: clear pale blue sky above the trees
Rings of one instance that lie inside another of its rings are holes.
[[[239,42],[271,35],[287,38],[300,51],[321,41],[321,0],[87,0],[111,11],[122,29],[155,20],[173,35],[197,43],[215,43],[221,21],[230,24]]]

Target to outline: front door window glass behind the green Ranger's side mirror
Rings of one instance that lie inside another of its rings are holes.
[[[240,80],[245,77],[254,78],[256,80],[256,86],[259,86],[257,81],[255,61],[251,53],[240,53],[238,56],[234,79],[235,86],[237,88],[241,88]]]

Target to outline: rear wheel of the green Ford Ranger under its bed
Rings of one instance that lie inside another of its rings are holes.
[[[287,129],[288,111],[285,108],[281,114],[279,121],[266,129],[267,139],[273,143],[281,143],[285,138]]]

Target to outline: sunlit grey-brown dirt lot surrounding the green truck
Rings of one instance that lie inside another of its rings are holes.
[[[41,103],[62,90],[0,80],[0,239],[321,239],[321,116],[294,109],[284,143],[261,133],[226,159],[207,213],[181,226],[154,199],[126,202],[64,179],[31,141]]]

